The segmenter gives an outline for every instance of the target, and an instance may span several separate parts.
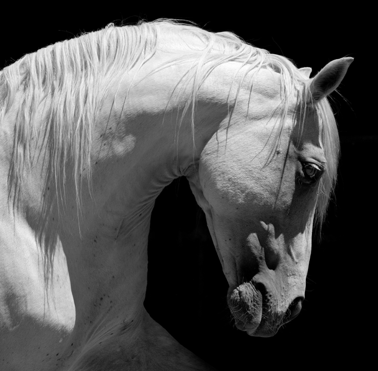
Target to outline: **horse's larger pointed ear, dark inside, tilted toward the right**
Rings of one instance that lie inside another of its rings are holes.
[[[334,91],[347,73],[353,58],[340,58],[328,63],[310,80],[310,92],[316,102]]]

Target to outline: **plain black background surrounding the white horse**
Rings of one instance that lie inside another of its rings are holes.
[[[204,214],[185,178],[174,181],[156,201],[145,306],[181,344],[219,370],[297,367],[309,360],[314,367],[362,366],[365,335],[371,332],[375,315],[368,286],[375,270],[370,210],[375,202],[378,144],[377,124],[369,118],[366,101],[367,85],[373,83],[369,76],[374,76],[363,58],[366,36],[353,30],[346,33],[340,26],[327,26],[321,34],[318,21],[302,14],[275,23],[264,12],[229,9],[150,11],[119,5],[115,10],[44,11],[23,9],[16,18],[2,14],[1,68],[26,53],[110,22],[120,25],[122,20],[127,24],[159,17],[192,20],[209,31],[233,31],[257,47],[292,59],[297,67],[311,67],[313,74],[333,59],[355,58],[338,89],[345,99],[332,94],[341,138],[338,185],[322,241],[313,241],[301,314],[268,339],[249,337],[234,327],[226,305],[228,285]],[[280,10],[276,15],[280,18]]]

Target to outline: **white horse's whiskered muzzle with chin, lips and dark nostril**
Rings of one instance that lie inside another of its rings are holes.
[[[270,337],[299,314],[303,297],[296,297],[287,308],[279,310],[278,296],[251,281],[230,287],[227,301],[239,330],[250,336]]]

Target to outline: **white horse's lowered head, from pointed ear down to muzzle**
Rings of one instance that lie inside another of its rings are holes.
[[[249,335],[273,336],[301,310],[314,217],[336,177],[338,134],[324,98],[352,61],[333,61],[312,79],[309,69],[297,71],[302,89],[284,109],[282,75],[260,70],[238,97],[247,114],[233,110],[188,177],[229,284],[236,327]]]

